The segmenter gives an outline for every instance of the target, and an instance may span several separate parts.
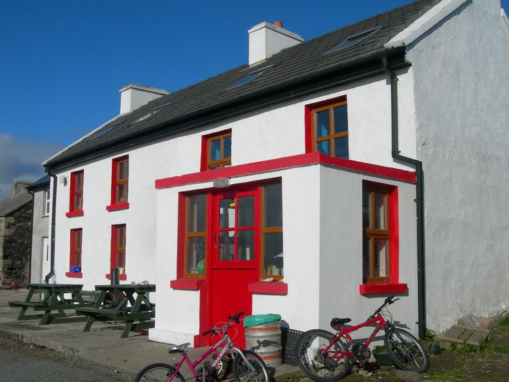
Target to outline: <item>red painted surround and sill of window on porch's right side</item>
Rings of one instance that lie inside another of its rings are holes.
[[[388,199],[388,231],[389,231],[389,275],[380,279],[363,279],[359,285],[360,294],[387,294],[403,293],[408,290],[406,283],[399,282],[399,206],[398,188],[394,185],[386,185],[371,181],[362,182],[362,192],[365,190],[379,190],[387,195]],[[376,230],[374,230],[376,231]],[[375,232],[376,235],[376,232]],[[365,229],[362,229],[362,238],[365,236]],[[362,275],[364,277],[364,275]]]

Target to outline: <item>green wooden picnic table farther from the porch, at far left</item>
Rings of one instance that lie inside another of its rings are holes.
[[[62,322],[83,322],[86,317],[69,317],[65,310],[92,306],[93,302],[87,302],[83,299],[83,285],[81,284],[28,284],[26,286],[28,294],[25,301],[8,301],[11,308],[21,308],[17,319],[40,319],[40,325]],[[37,293],[35,293],[37,292]],[[36,295],[34,299],[34,294]],[[65,294],[70,294],[66,298]],[[26,314],[26,310],[32,308],[35,313]],[[43,313],[44,312],[44,313]]]

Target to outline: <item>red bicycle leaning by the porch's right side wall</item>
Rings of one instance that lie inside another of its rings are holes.
[[[399,299],[387,297],[382,306],[362,324],[344,328],[349,318],[333,318],[331,326],[337,331],[333,334],[322,329],[302,333],[297,342],[297,359],[302,371],[310,379],[331,382],[342,379],[350,369],[351,361],[365,363],[371,356],[369,344],[380,329],[385,330],[383,343],[394,365],[399,369],[424,373],[428,369],[428,354],[417,338],[392,323],[392,314],[387,306]],[[362,343],[353,344],[350,333],[364,326],[376,324],[369,338]]]

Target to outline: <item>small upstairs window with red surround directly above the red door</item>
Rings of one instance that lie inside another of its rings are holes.
[[[201,171],[231,166],[231,130],[202,138]]]

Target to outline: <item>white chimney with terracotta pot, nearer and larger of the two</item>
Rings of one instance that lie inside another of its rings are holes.
[[[247,31],[249,33],[249,65],[266,60],[285,48],[293,47],[303,38],[283,28],[282,22],[262,22]]]

